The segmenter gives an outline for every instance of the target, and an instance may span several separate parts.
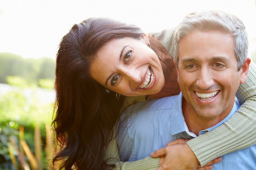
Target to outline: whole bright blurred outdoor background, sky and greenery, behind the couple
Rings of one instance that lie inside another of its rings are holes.
[[[47,163],[55,148],[55,54],[74,24],[108,17],[155,32],[207,9],[244,22],[255,62],[256,0],[0,0],[0,170],[55,168]]]

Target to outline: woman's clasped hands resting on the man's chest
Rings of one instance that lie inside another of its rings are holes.
[[[173,140],[166,144],[166,147],[152,153],[152,157],[160,157],[160,167],[158,170],[209,170],[212,169],[212,164],[221,161],[221,158],[219,157],[208,162],[204,167],[200,167],[195,154],[190,150],[189,145],[186,144],[187,141],[187,139]]]

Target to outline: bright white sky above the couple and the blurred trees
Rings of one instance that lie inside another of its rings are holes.
[[[256,51],[256,0],[0,0],[0,53],[55,59],[61,38],[90,17],[108,17],[153,32],[207,9],[236,14],[247,27],[249,52]]]

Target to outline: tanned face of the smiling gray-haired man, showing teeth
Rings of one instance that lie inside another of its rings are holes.
[[[243,68],[238,71],[232,35],[221,31],[192,31],[183,37],[177,71],[187,111],[208,121],[230,113],[247,76]]]

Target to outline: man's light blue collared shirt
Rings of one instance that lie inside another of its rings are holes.
[[[117,141],[121,161],[137,161],[150,153],[163,148],[174,139],[191,139],[182,114],[183,95],[155,99],[137,103],[127,108],[120,119]],[[202,130],[207,133],[226,122],[240,105],[235,101],[233,109],[223,121]],[[222,161],[213,165],[218,170],[253,170],[256,169],[256,144],[243,150],[237,150],[222,156]]]

